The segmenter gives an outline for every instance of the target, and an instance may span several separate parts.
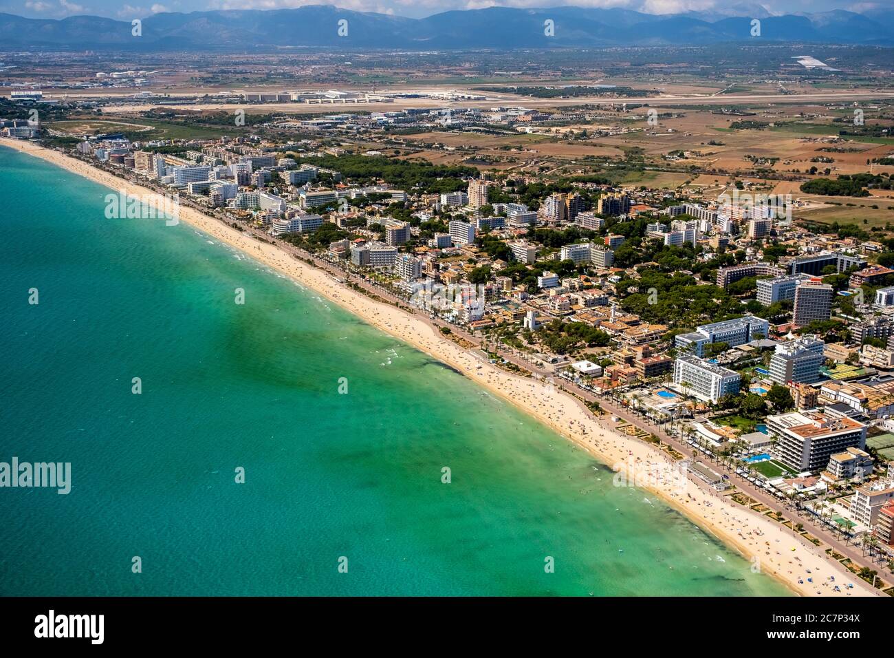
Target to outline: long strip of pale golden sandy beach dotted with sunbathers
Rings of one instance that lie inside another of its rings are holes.
[[[114,191],[124,190],[140,197],[154,193],[76,158],[27,141],[0,138],[0,145],[43,158]],[[444,339],[425,320],[389,304],[375,302],[367,295],[339,284],[324,271],[297,261],[290,253],[274,244],[259,242],[195,209],[181,206],[180,220],[279,270],[376,328],[451,365],[493,394],[536,416],[540,422],[574,441],[603,463],[616,470],[620,466],[632,469],[637,482],[640,479],[646,482],[647,491],[661,496],[662,500],[679,509],[698,526],[735,547],[751,562],[752,570],[759,569],[777,577],[797,594],[806,596],[882,595],[803,537],[792,534],[763,515],[738,506],[722,496],[703,491],[696,483],[679,477],[676,466],[665,453],[618,432],[610,416],[596,419],[577,398],[553,389],[542,381],[512,375],[494,367],[486,359]],[[181,228],[171,226],[169,230]],[[629,472],[627,475],[628,479],[633,477]],[[854,587],[848,589],[845,586],[848,583],[853,583]],[[839,585],[840,592],[834,590],[836,585]]]

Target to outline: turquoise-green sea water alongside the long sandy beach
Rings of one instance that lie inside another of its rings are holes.
[[[68,495],[0,489],[0,594],[788,593],[312,291],[106,219],[107,192],[0,148],[0,461],[72,464]]]

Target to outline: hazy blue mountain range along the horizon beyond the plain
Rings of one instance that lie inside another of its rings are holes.
[[[705,45],[729,41],[810,41],[894,46],[894,12],[844,11],[769,16],[755,5],[761,38],[751,37],[752,5],[730,13],[656,16],[625,9],[490,7],[409,19],[331,5],[271,11],[158,13],[143,20],[142,36],[129,21],[72,16],[59,21],[0,13],[0,48],[46,47],[136,50],[249,47],[520,48]],[[348,36],[338,21],[348,21]],[[553,21],[554,36],[544,35]]]

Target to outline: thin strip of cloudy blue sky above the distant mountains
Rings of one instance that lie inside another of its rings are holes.
[[[345,9],[395,13],[420,17],[449,9],[477,9],[486,6],[548,7],[575,5],[623,7],[646,13],[713,11],[726,13],[731,6],[763,5],[770,13],[823,12],[848,9],[860,12],[873,8],[894,9],[894,0],[0,0],[0,12],[30,18],[63,18],[94,14],[130,21],[152,13],[195,12],[207,9],[282,9],[302,4],[336,4]],[[747,11],[735,12],[745,15]]]

